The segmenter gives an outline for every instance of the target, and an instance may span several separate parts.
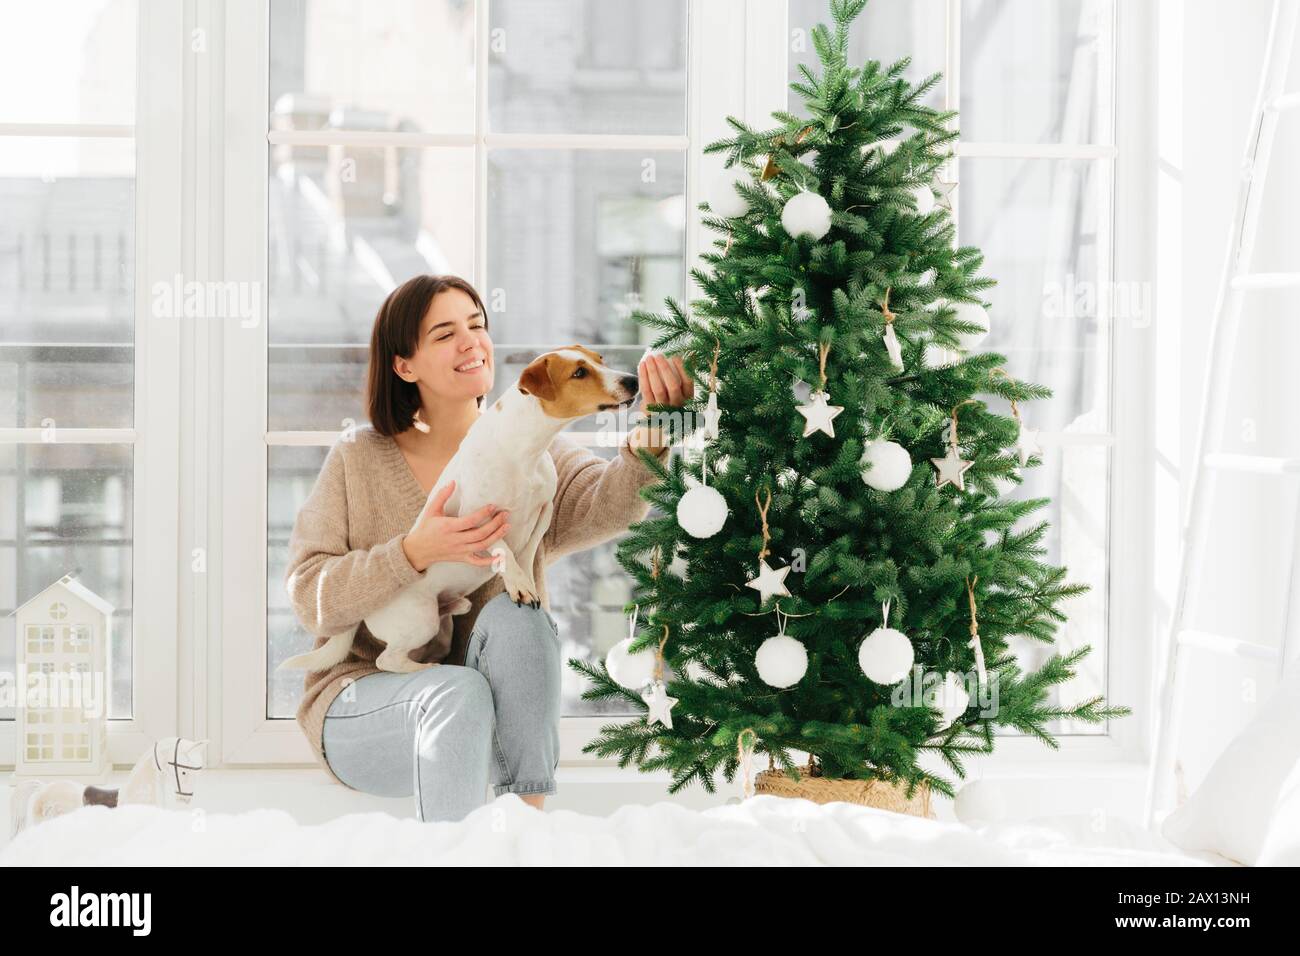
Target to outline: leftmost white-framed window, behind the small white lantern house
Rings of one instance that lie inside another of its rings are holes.
[[[168,349],[178,329],[151,321],[148,277],[178,261],[179,21],[136,0],[30,4],[9,21],[0,671],[14,667],[12,611],[74,574],[114,607],[110,750],[130,761],[176,721],[178,392]],[[147,394],[168,399],[151,407]],[[0,710],[0,763],[13,744],[13,711]]]

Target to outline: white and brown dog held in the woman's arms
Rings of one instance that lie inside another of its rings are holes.
[[[467,515],[494,503],[510,511],[511,528],[489,548],[498,558],[490,567],[462,561],[436,562],[420,580],[367,615],[367,630],[386,645],[376,667],[396,672],[432,667],[432,663],[412,661],[411,652],[450,632],[452,615],[469,610],[467,594],[497,574],[504,579],[506,591],[516,604],[541,605],[533,580],[533,559],[551,523],[556,485],[555,462],[547,449],[569,421],[625,406],[637,392],[636,375],[607,368],[597,352],[572,345],[529,363],[515,388],[507,389],[478,416],[438,476],[425,510],[454,479],[456,489],[447,498],[443,514]],[[356,626],[352,626],[280,667],[312,671],[332,667],[347,657],[355,636]]]

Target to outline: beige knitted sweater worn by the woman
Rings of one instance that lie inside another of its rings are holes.
[[[547,609],[546,564],[607,541],[645,518],[650,503],[640,490],[655,481],[627,441],[606,460],[562,433],[549,454],[558,476],[555,511],[534,564]],[[659,460],[667,455],[663,449]],[[316,637],[315,646],[360,622],[347,659],[307,674],[295,718],[316,761],[338,783],[342,780],[329,769],[321,747],[325,711],[352,680],[378,672],[374,658],[384,645],[367,631],[363,618],[421,576],[407,561],[402,538],[424,502],[424,489],[398,444],[364,425],[354,441],[341,438],[330,447],[289,537],[285,588],[299,622]],[[454,618],[450,645],[446,637],[434,637],[412,657],[463,665],[478,611],[502,591],[500,575],[473,591],[472,609]]]

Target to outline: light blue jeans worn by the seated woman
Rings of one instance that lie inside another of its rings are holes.
[[[325,714],[321,747],[348,787],[415,795],[421,821],[455,821],[502,793],[554,793],[560,640],[542,607],[507,593],[478,611],[465,663],[367,674]]]

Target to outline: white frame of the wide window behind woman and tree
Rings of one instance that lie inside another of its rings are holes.
[[[1113,0],[1112,0],[1113,1]],[[478,0],[477,62],[488,62],[488,4]],[[205,4],[200,3],[200,7]],[[1117,36],[1138,38],[1138,48],[1154,36],[1150,17],[1141,5],[1124,4],[1118,14]],[[948,99],[956,103],[959,83],[961,0],[948,0],[948,75],[952,77]],[[701,170],[716,164],[705,156],[705,144],[729,135],[725,117],[737,116],[758,127],[772,125],[772,111],[786,108],[786,0],[690,0],[688,52],[688,120],[685,137],[638,135],[543,135],[494,134],[485,127],[486,77],[477,75],[477,120],[473,134],[442,135],[422,133],[269,133],[268,131],[268,35],[266,0],[228,0],[224,18],[212,23],[220,33],[224,49],[224,78],[214,98],[221,111],[213,109],[213,135],[217,147],[211,151],[214,182],[220,182],[225,219],[211,224],[211,243],[221,259],[218,273],[226,280],[256,282],[263,290],[263,319],[266,289],[266,176],[268,146],[277,142],[311,144],[365,146],[473,146],[476,150],[476,252],[472,281],[478,287],[490,284],[486,276],[486,163],[494,146],[528,146],[559,148],[679,148],[685,150],[688,225],[686,259],[694,264],[699,254],[711,248],[712,233],[699,222],[696,209]],[[248,69],[261,64],[261,69]],[[1145,68],[1118,64],[1117,87],[1126,96],[1115,98],[1117,143],[1105,144],[1039,144],[961,143],[958,156],[1035,156],[1044,160],[1087,159],[1101,164],[1106,182],[1114,182],[1113,196],[1121,217],[1108,220],[1112,237],[1110,256],[1102,256],[1117,281],[1140,280],[1150,273],[1141,256],[1148,255],[1145,237],[1150,234],[1153,190],[1141,186],[1145,170],[1153,168],[1149,143],[1152,81]],[[220,117],[220,118],[218,118]],[[214,187],[216,189],[216,187]],[[1105,250],[1105,246],[1102,246]],[[688,299],[698,290],[689,289]],[[1098,316],[1105,321],[1108,313]],[[1113,362],[1110,402],[1113,408],[1145,408],[1140,403],[1149,380],[1148,336],[1143,328],[1113,329],[1110,360]],[[329,446],[337,432],[266,432],[266,323],[240,328],[226,323],[220,342],[205,362],[216,384],[214,393],[222,402],[220,458],[216,472],[213,507],[220,509],[212,527],[220,528],[217,546],[211,555],[212,567],[220,570],[220,584],[212,584],[217,605],[213,617],[220,643],[220,679],[212,678],[207,688],[194,688],[195,711],[208,692],[217,700],[209,708],[213,727],[220,728],[221,761],[228,765],[312,763],[313,757],[298,724],[292,719],[265,718],[266,701],[266,459],[268,445]],[[199,395],[199,401],[203,395]],[[1110,591],[1108,600],[1109,632],[1149,633],[1150,607],[1149,548],[1135,546],[1147,541],[1150,514],[1149,425],[1145,414],[1115,416],[1108,434],[1086,438],[1112,447],[1112,529],[1126,528],[1123,548],[1114,533],[1110,546]],[[1045,449],[1058,446],[1061,436],[1043,434]],[[1080,441],[1071,436],[1071,442]],[[217,499],[220,503],[217,503]],[[1106,654],[1108,700],[1134,705],[1144,687],[1149,641],[1110,641]],[[194,652],[198,656],[198,652]],[[1140,717],[1141,714],[1139,714]],[[608,715],[564,718],[560,728],[562,766],[611,765],[612,760],[594,760],[582,747]],[[1140,758],[1141,721],[1128,718],[1113,722],[1105,735],[1063,735],[1061,749],[1053,760],[1071,762],[1135,761]],[[1022,737],[1000,737],[998,760],[1028,762],[1044,754],[1041,743]]]

